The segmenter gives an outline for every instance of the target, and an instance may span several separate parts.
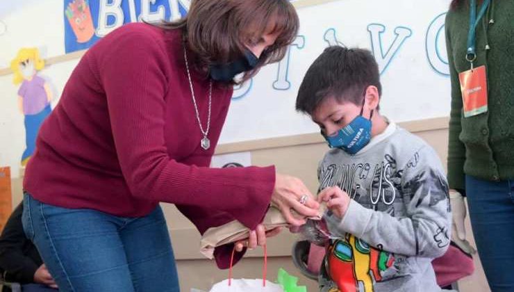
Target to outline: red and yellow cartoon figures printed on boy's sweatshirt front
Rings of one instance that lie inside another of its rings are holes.
[[[395,261],[395,257],[347,234],[332,241],[325,258],[326,270],[341,292],[372,292],[375,282]]]

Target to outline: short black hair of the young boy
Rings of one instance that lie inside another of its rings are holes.
[[[296,109],[312,115],[326,97],[363,104],[368,86],[382,94],[379,65],[367,49],[326,48],[307,70],[298,90]]]

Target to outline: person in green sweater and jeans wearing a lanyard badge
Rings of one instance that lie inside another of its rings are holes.
[[[490,289],[514,291],[514,2],[453,0],[445,32],[455,234],[465,239],[467,195]]]

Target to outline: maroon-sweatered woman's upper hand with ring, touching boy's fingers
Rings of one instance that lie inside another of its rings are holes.
[[[305,224],[306,217],[318,215],[320,204],[310,193],[304,183],[296,177],[276,174],[275,188],[272,194],[272,204],[276,206],[290,225],[299,226]],[[296,218],[291,211],[294,210],[301,216]]]

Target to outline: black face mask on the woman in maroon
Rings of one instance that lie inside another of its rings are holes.
[[[258,62],[259,58],[247,49],[244,51],[243,56],[231,63],[211,66],[210,77],[214,81],[229,82],[232,81],[237,74],[254,69]]]

